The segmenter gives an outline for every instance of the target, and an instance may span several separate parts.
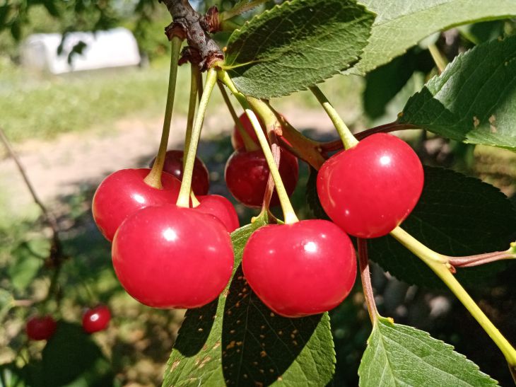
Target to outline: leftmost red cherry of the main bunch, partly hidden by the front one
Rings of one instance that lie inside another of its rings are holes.
[[[177,200],[180,181],[163,173],[163,189],[158,190],[143,181],[150,171],[148,168],[122,169],[107,176],[98,186],[93,196],[93,219],[108,241],[112,241],[122,221],[137,210],[173,204]]]

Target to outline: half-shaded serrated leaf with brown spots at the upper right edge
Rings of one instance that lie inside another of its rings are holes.
[[[516,151],[515,105],[516,35],[459,55],[409,99],[399,122]]]

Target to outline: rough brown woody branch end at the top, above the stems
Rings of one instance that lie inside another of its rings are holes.
[[[224,59],[221,47],[209,35],[210,25],[204,16],[192,8],[188,0],[161,0],[167,6],[174,22],[165,28],[169,39],[172,35],[186,38],[188,45],[199,51],[199,68],[205,71],[213,63]]]

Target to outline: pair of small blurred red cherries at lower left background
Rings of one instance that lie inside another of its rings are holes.
[[[88,308],[83,314],[83,330],[95,333],[105,330],[111,320],[110,308],[105,305]],[[32,316],[25,325],[25,333],[30,340],[49,340],[57,330],[57,321],[50,315]]]

